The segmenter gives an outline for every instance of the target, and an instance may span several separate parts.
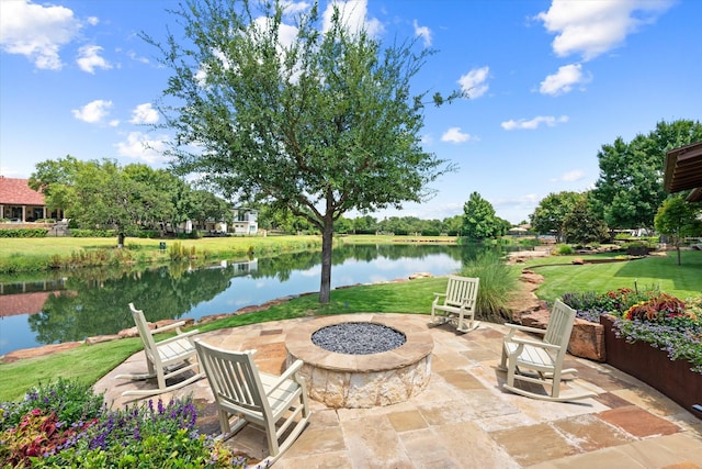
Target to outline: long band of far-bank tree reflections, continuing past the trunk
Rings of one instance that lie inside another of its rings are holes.
[[[378,257],[423,258],[437,254],[465,263],[475,257],[477,249],[445,245],[348,245],[335,247],[332,263],[340,265],[352,258],[369,263]],[[178,319],[229,288],[234,277],[248,275],[283,282],[295,270],[318,266],[320,256],[318,250],[284,253],[258,259],[256,270],[249,270],[246,264],[196,270],[188,264],[149,270],[80,269],[70,272],[66,291],[50,295],[43,311],[31,315],[29,323],[41,344],[114,334],[134,326],[129,302],[143,310],[148,321]]]

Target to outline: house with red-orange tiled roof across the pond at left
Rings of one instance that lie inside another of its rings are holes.
[[[60,220],[63,211],[49,211],[44,194],[30,188],[29,179],[0,176],[0,219],[13,222]]]

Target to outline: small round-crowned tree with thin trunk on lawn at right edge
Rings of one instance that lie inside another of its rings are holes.
[[[680,265],[680,245],[686,236],[702,235],[701,214],[702,204],[686,202],[682,196],[667,199],[656,213],[656,231],[672,239],[678,250],[678,265]]]

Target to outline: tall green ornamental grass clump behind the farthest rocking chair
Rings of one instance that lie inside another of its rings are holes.
[[[516,270],[501,261],[496,253],[488,250],[467,263],[461,275],[480,279],[475,306],[477,320],[498,324],[511,321],[507,302],[517,287]]]

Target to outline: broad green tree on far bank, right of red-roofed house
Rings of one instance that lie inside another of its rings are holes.
[[[115,230],[118,245],[128,233],[146,227],[231,217],[224,200],[143,164],[122,167],[110,159],[81,161],[68,155],[37,164],[30,187],[41,189],[48,206],[64,209],[80,227]]]

